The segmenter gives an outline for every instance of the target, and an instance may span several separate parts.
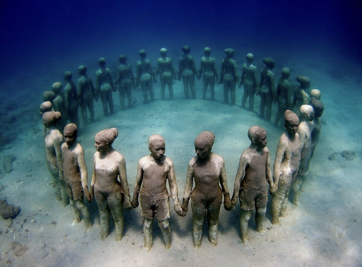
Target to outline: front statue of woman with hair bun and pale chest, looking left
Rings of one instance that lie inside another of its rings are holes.
[[[94,140],[97,152],[94,153],[93,176],[90,184],[90,196],[96,198],[100,213],[101,239],[109,234],[109,216],[112,213],[115,228],[115,240],[123,237],[123,203],[130,210],[131,199],[127,182],[125,158],[112,147],[118,136],[116,128],[97,132]]]

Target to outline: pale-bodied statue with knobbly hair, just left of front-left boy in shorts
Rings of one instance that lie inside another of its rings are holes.
[[[56,123],[62,115],[59,111],[47,111],[43,114],[43,124],[49,132],[45,136],[45,153],[47,167],[55,185],[56,200],[62,201],[63,207],[69,204],[66,187],[63,177],[63,158],[62,158],[62,133],[57,128]]]

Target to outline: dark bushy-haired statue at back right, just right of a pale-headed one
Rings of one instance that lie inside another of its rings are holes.
[[[271,107],[275,99],[274,73],[271,70],[275,66],[275,61],[272,58],[264,58],[263,63],[266,67],[261,70],[257,94],[260,95],[260,116],[270,121]]]

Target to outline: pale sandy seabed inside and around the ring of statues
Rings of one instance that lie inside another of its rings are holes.
[[[279,76],[277,74],[277,76]],[[345,88],[355,88],[353,79],[323,80],[321,100],[325,105],[324,124],[319,144],[311,161],[310,174],[303,184],[300,204],[290,202],[287,216],[279,225],[270,222],[270,200],[267,206],[264,234],[256,232],[254,216],[249,222],[252,247],[241,243],[240,206],[230,212],[220,211],[218,246],[212,247],[204,227],[202,246],[192,243],[192,214],[177,216],[171,204],[172,248],[166,250],[161,232],[154,222],[153,247],[143,248],[143,225],[140,207],[124,211],[125,229],[120,242],[115,241],[111,220],[110,234],[100,240],[99,212],[96,202],[87,203],[93,228],[85,231],[84,224],[71,226],[70,206],[62,208],[56,202],[54,188],[46,168],[42,140],[39,103],[25,109],[18,107],[9,113],[21,114],[14,122],[17,138],[0,151],[3,159],[13,155],[14,170],[0,173],[0,198],[20,205],[21,213],[13,220],[0,219],[0,266],[361,266],[362,265],[362,180],[361,100],[353,94],[341,94]],[[327,82],[326,82],[327,80]],[[312,77],[313,84],[318,84]],[[322,84],[322,82],[321,82]],[[131,196],[137,162],[148,154],[147,140],[160,133],[166,140],[166,155],[174,162],[178,195],[182,201],[188,161],[195,155],[193,142],[201,131],[215,133],[212,151],[224,158],[228,187],[233,190],[239,157],[249,145],[248,128],[264,127],[268,133],[270,163],[282,127],[261,120],[256,112],[241,109],[242,89],[237,89],[237,105],[224,105],[222,85],[216,85],[214,102],[201,99],[202,81],[197,81],[197,99],[183,99],[182,83],[174,82],[174,100],[160,100],[159,82],[154,84],[155,102],[143,105],[140,89],[134,91],[138,100],[132,109],[119,111],[118,92],[113,93],[116,113],[102,117],[101,102],[95,103],[96,121],[81,127],[78,141],[85,151],[88,184],[92,177],[94,135],[104,128],[117,127],[119,136],[113,147],[126,158]],[[316,86],[318,88],[318,86]],[[328,88],[328,92],[327,92]],[[168,92],[166,89],[166,97]],[[343,97],[341,97],[343,96]],[[210,98],[209,92],[207,98]],[[256,97],[254,109],[260,99]],[[338,109],[332,108],[338,103]],[[39,105],[38,105],[39,104]],[[248,105],[248,102],[247,102]],[[274,119],[277,107],[273,106]],[[352,116],[353,114],[353,116]],[[333,152],[354,150],[356,158],[347,161]],[[172,202],[172,201],[171,201]]]

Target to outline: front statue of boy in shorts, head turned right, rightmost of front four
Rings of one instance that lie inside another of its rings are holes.
[[[240,201],[241,241],[249,243],[248,223],[255,209],[256,230],[263,233],[266,203],[268,203],[268,183],[274,186],[269,163],[269,149],[266,147],[266,131],[259,126],[249,128],[250,146],[241,154],[237,169],[232,208]]]

